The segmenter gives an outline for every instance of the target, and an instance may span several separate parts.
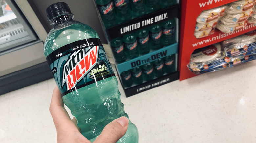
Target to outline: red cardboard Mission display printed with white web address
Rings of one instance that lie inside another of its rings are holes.
[[[196,27],[196,19],[203,10],[208,10],[225,5],[236,0],[182,0],[181,1],[181,28],[180,28],[180,48],[179,48],[179,71],[180,81],[196,76],[188,70],[187,64],[190,60],[190,55],[195,49],[202,48],[214,43],[221,42],[226,39],[244,34],[246,32],[256,29],[256,25],[248,24],[243,29],[222,33],[218,29],[215,33],[197,39],[194,36]]]

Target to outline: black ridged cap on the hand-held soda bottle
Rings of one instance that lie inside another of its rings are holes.
[[[50,5],[48,8],[46,8],[46,14],[49,21],[51,21],[54,17],[61,15],[63,13],[70,14],[73,17],[73,14],[69,9],[68,4],[64,2],[54,3]]]

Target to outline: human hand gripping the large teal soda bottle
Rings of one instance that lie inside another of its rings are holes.
[[[76,119],[70,119],[57,86],[53,90],[50,113],[57,130],[57,143],[91,143],[80,133]],[[126,133],[128,124],[126,117],[113,120],[93,143],[116,143]]]

